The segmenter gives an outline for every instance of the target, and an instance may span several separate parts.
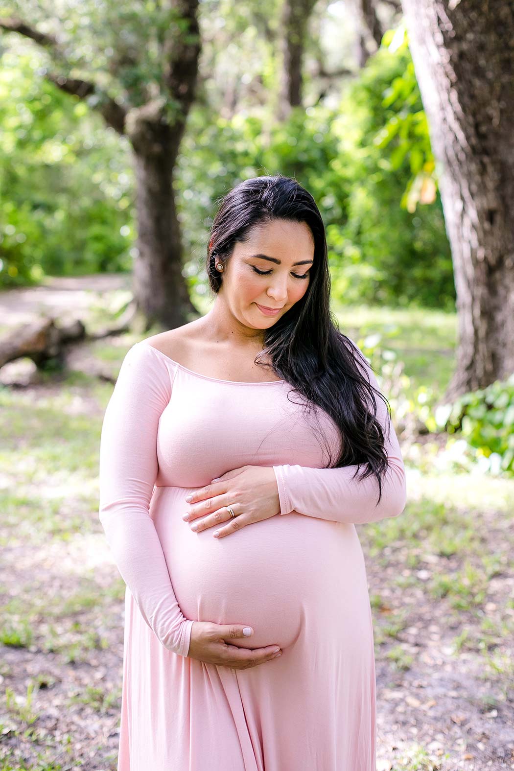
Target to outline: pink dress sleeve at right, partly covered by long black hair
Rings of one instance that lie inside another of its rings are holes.
[[[378,389],[375,373],[368,362],[365,365],[371,385]],[[385,434],[389,465],[382,479],[382,496],[378,506],[378,480],[375,474],[359,481],[358,477],[352,479],[357,466],[311,469],[285,463],[273,466],[281,514],[296,511],[307,517],[362,524],[396,517],[404,510],[407,490],[398,438],[392,421],[388,434],[387,406],[379,397],[376,400],[377,419]],[[363,466],[358,475],[362,470]]]

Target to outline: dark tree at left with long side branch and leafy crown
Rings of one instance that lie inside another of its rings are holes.
[[[46,79],[85,99],[132,146],[138,227],[133,289],[146,328],[175,328],[196,313],[182,276],[173,170],[197,85],[197,6],[198,0],[82,0],[57,18],[50,5],[45,11],[41,2],[25,0],[25,19],[17,2],[12,15],[0,18],[0,28],[48,52]]]

